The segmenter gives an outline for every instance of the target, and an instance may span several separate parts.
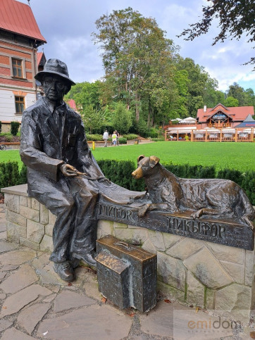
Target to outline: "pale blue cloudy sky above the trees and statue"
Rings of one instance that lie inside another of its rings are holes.
[[[20,1],[27,4],[27,0]],[[247,37],[211,46],[219,32],[217,23],[192,42],[177,37],[189,24],[197,23],[202,6],[206,4],[206,0],[30,0],[39,29],[47,41],[39,51],[43,49],[46,59],[64,61],[75,82],[93,82],[104,77],[101,51],[91,37],[92,32],[97,32],[95,21],[113,10],[131,7],[144,17],[155,18],[158,27],[166,31],[166,37],[180,46],[183,58],[192,58],[218,80],[218,89],[225,92],[237,82],[255,92],[253,66],[242,65],[254,56]]]

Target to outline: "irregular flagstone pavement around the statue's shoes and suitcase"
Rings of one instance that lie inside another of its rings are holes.
[[[213,328],[219,317],[163,297],[148,313],[119,310],[102,298],[94,272],[81,266],[76,277],[72,284],[63,282],[49,254],[6,241],[4,205],[0,205],[2,340],[251,339],[249,327],[237,332],[231,327]]]

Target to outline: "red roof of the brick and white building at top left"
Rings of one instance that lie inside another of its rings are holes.
[[[0,29],[30,37],[38,42],[42,36],[30,6],[15,0],[1,0]]]

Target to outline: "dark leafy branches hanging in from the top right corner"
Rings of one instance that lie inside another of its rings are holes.
[[[187,36],[185,40],[193,40],[208,32],[214,18],[219,20],[220,33],[213,39],[213,45],[225,39],[239,40],[242,34],[249,37],[248,42],[255,40],[255,5],[252,0],[207,0],[209,6],[203,6],[203,17],[199,23],[189,25],[178,37]],[[252,57],[248,62],[255,63]]]

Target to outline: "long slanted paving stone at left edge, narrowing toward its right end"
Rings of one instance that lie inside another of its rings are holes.
[[[50,294],[51,291],[49,289],[41,287],[39,284],[33,284],[22,291],[18,291],[18,293],[8,296],[6,301],[4,301],[1,309],[1,317],[17,313],[23,307],[27,306],[28,303],[35,301],[40,295],[47,296]]]

